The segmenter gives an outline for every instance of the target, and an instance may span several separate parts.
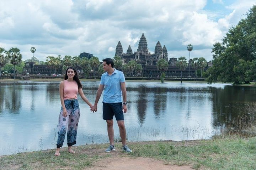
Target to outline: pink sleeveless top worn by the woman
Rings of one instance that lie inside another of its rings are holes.
[[[78,84],[76,81],[69,82],[68,80],[64,80],[64,100],[69,98],[77,99],[78,94]]]

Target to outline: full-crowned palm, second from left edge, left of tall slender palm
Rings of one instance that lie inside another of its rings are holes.
[[[17,47],[12,47],[8,52],[7,55],[11,58],[11,63],[14,66],[14,79],[15,79],[15,66],[21,63],[22,55],[20,53],[20,49]]]

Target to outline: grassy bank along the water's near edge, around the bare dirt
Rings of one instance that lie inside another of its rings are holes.
[[[163,164],[190,165],[193,169],[256,169],[256,138],[229,137],[197,141],[129,142],[131,154],[104,153],[107,144],[74,147],[75,154],[61,149],[61,156],[54,156],[54,149],[6,155],[0,157],[0,169],[86,169],[101,159],[114,157],[148,157],[162,160]]]

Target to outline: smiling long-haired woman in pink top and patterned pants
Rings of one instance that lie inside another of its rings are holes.
[[[75,153],[71,149],[72,145],[76,144],[76,134],[78,129],[78,122],[80,117],[80,109],[77,100],[77,94],[80,94],[82,100],[90,107],[92,104],[85,97],[82,91],[82,84],[78,78],[77,72],[74,68],[66,69],[65,79],[60,82],[59,94],[62,108],[60,109],[59,123],[58,123],[58,140],[55,156],[60,155],[60,147],[62,147],[66,131],[68,139],[68,152]]]

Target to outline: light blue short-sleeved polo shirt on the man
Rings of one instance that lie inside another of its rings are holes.
[[[105,86],[103,92],[104,103],[119,103],[122,102],[121,83],[125,82],[123,72],[114,69],[113,74],[108,75],[108,72],[101,75],[100,84]]]

